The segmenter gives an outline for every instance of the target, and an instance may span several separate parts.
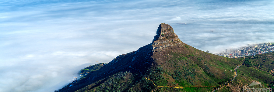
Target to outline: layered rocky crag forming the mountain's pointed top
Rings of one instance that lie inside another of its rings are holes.
[[[156,36],[154,36],[152,42],[152,50],[160,51],[162,48],[174,46],[180,44],[181,40],[174,33],[173,28],[165,23],[161,23],[157,29]]]

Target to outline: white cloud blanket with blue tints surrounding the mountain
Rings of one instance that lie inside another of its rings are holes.
[[[94,61],[108,63],[151,43],[160,23],[210,53],[274,42],[273,6],[271,0],[0,1],[0,91],[60,89]]]

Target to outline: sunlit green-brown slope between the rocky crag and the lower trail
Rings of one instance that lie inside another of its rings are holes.
[[[158,85],[173,87],[218,86],[233,78],[234,71],[230,70],[243,60],[206,53],[185,43],[154,53],[153,57],[156,72],[149,78]]]

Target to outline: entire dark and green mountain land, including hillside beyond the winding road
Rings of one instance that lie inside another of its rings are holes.
[[[122,54],[55,92],[240,92],[274,88],[274,52],[244,58],[206,53],[161,23],[152,43]],[[238,72],[236,72],[238,71]],[[260,86],[249,87],[253,81]]]

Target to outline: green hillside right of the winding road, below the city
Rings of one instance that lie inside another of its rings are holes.
[[[255,88],[273,87],[273,69],[274,69],[274,53],[259,54],[255,56],[244,57],[244,65],[237,68],[237,77],[227,87],[217,92],[240,92],[243,86],[249,86],[253,81],[260,82],[260,85],[251,86]]]

